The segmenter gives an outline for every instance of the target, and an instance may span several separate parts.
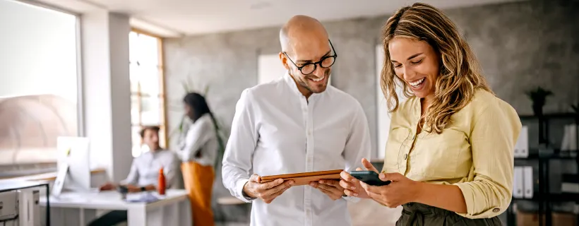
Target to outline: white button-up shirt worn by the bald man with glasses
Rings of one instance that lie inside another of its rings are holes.
[[[223,184],[250,202],[243,186],[253,173],[350,172],[369,155],[368,122],[354,97],[328,85],[306,100],[286,73],[241,94],[223,157]],[[251,201],[251,225],[351,225],[345,198],[332,201],[311,186],[293,186],[270,204]]]

